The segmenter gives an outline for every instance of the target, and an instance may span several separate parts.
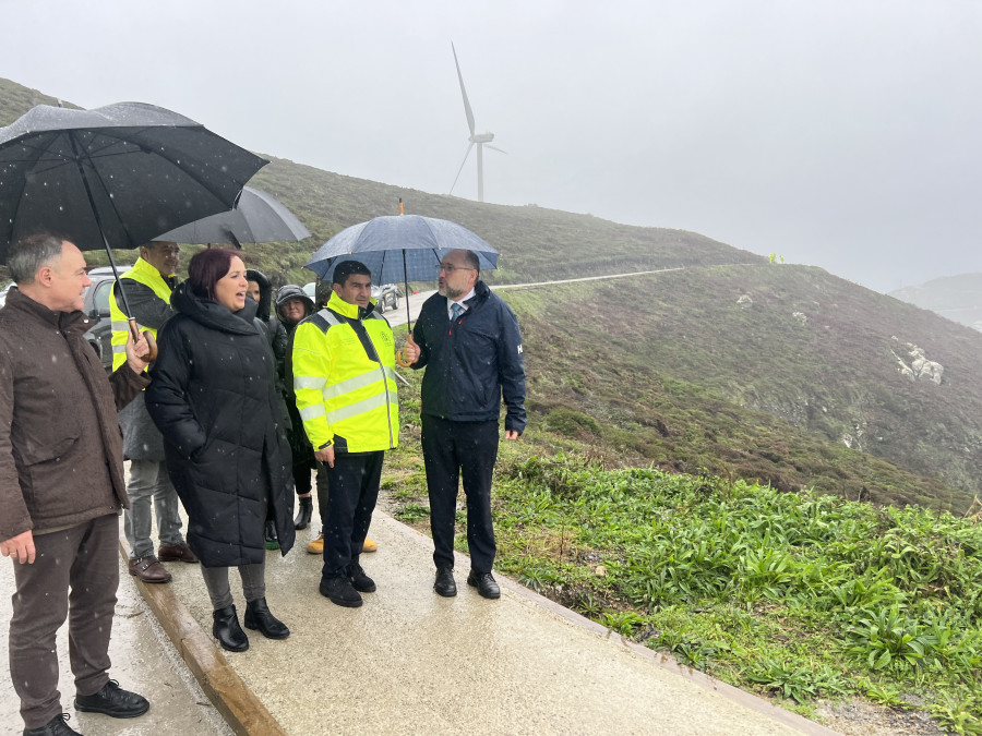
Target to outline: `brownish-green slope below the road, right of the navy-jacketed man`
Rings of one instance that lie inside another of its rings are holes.
[[[956,511],[979,492],[982,336],[930,312],[776,265],[502,293],[534,414],[608,463]],[[944,383],[902,377],[898,341],[941,361]]]

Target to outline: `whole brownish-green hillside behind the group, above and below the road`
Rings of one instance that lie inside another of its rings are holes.
[[[0,81],[0,122],[51,101]],[[460,222],[496,246],[492,283],[684,267],[503,292],[526,334],[534,419],[612,462],[953,510],[979,494],[978,333],[693,232],[479,204],[283,159],[251,183],[313,233],[248,248],[247,262],[277,283],[311,280],[302,264],[323,241],[395,214],[399,197],[407,212]],[[906,357],[907,342],[944,365],[942,385],[900,376],[891,351]]]

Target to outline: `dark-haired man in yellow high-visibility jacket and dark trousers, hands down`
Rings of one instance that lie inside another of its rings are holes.
[[[360,606],[375,590],[359,564],[379,497],[382,460],[398,445],[395,341],[374,312],[364,264],[335,268],[327,305],[292,337],[297,409],[331,488],[324,519],[320,590],[333,603]]]

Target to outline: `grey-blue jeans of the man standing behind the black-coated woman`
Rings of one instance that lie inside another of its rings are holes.
[[[157,514],[160,545],[171,546],[184,541],[181,536],[180,500],[163,461],[132,460],[127,495],[130,496],[130,509],[125,512],[123,527],[130,543],[131,559],[154,554],[151,502]]]

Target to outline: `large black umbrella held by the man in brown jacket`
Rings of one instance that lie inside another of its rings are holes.
[[[110,249],[231,209],[267,162],[153,105],[39,105],[0,128],[0,261],[21,236],[49,230],[105,248],[116,270]]]

